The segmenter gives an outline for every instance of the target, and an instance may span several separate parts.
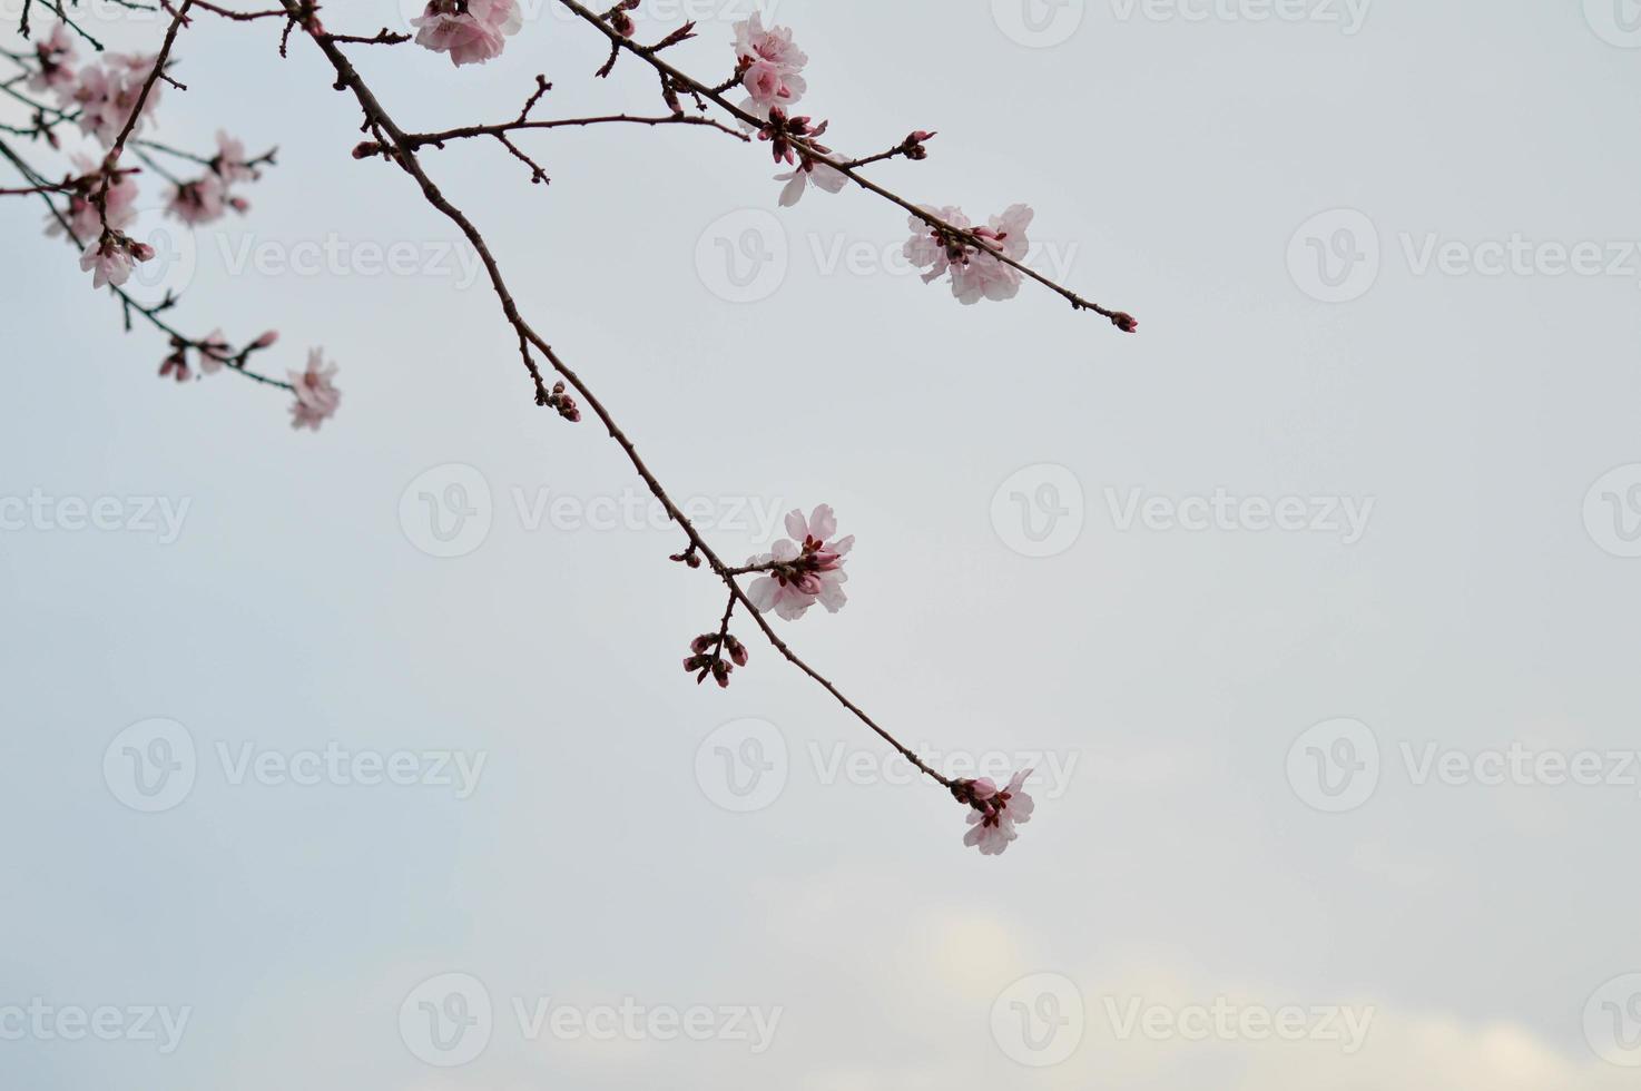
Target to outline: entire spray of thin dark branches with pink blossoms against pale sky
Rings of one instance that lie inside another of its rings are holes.
[[[684,548],[674,553],[673,559],[691,569],[706,568],[722,582],[727,594],[722,619],[717,628],[689,641],[684,669],[694,674],[697,682],[712,678],[719,687],[729,686],[732,673],[750,661],[747,643],[730,632],[735,612],[740,610],[784,660],[967,807],[967,845],[983,855],[1003,853],[1016,840],[1017,827],[1032,817],[1032,799],[1024,791],[1029,771],[1016,774],[1003,787],[985,779],[944,776],[845,697],[830,679],[799,658],[771,625],[771,615],[783,622],[798,622],[816,604],[830,614],[845,605],[843,584],[848,579],[845,564],[855,540],[837,535],[839,525],[832,509],[822,504],[807,515],[801,510],[791,512],[786,517],[788,538],[773,543],[768,553],[750,556],[743,566],[725,563],[673,502],[610,410],[523,317],[482,233],[433,182],[422,154],[461,139],[492,139],[512,159],[530,169],[533,184],[545,184],[550,180],[548,172],[522,144],[527,133],[591,125],[650,128],[686,125],[717,130],[742,143],[766,144],[778,164],[791,167],[776,176],[781,182],[779,205],[796,203],[811,187],[827,194],[842,194],[855,187],[901,208],[909,215],[912,228],[903,248],[906,258],[924,269],[926,282],[948,279],[953,297],[962,304],[1012,299],[1027,281],[1032,281],[1058,294],[1073,310],[1098,313],[1121,331],[1134,333],[1136,320],[1126,312],[1078,295],[1027,264],[1031,249],[1027,230],[1034,217],[1027,205],[1011,205],[976,226],[957,207],[907,200],[863,172],[863,167],[896,159],[907,162],[926,159],[927,144],[935,136],[932,131],[911,130],[884,151],[858,159],[842,156],[820,143],[820,138],[829,135],[830,123],[794,112],[809,94],[806,74],[809,56],[798,46],[791,28],[766,26],[761,13],[742,20],[734,26],[730,43],[734,66],[729,75],[717,82],[704,82],[668,59],[674,48],[696,38],[694,23],[676,26],[645,44],[638,41],[638,25],[632,15],[638,0],[620,0],[604,11],[587,8],[579,0],[550,2],[607,41],[609,59],[597,69],[596,77],[609,77],[622,59],[648,66],[660,82],[665,112],[655,116],[619,113],[538,118],[537,112],[543,108],[542,103],[553,87],[545,75],[538,75],[512,120],[417,133],[394,120],[348,52],[354,46],[391,48],[414,41],[422,49],[445,54],[456,69],[486,64],[502,56],[510,41],[519,39],[523,30],[519,0],[428,0],[420,15],[410,20],[414,38],[387,30],[376,34],[333,31],[320,18],[318,0],[271,0],[272,7],[256,10],[238,10],[217,0],[158,0],[171,16],[158,52],[105,54],[82,66],[80,43],[75,41],[79,28],[64,13],[59,0],[39,0],[64,21],[38,41],[30,41],[26,52],[0,51],[0,57],[10,59],[20,69],[16,79],[0,82],[0,90],[31,112],[28,128],[0,125],[0,159],[16,169],[25,182],[21,187],[0,190],[0,195],[36,195],[44,200],[49,207],[48,231],[66,236],[82,249],[82,267],[92,272],[94,287],[107,287],[115,294],[126,326],[130,328],[133,318],[141,318],[167,336],[169,353],[161,364],[162,377],[187,382],[235,371],[259,384],[287,390],[294,397],[292,427],[317,430],[335,415],[341,400],[335,386],[336,366],[328,363],[320,349],[309,354],[304,369],[289,371],[289,381],[272,379],[251,371],[248,361],[277,345],[276,331],[269,330],[240,348],[235,348],[220,330],[190,338],[167,318],[177,305],[174,295],[166,294],[159,302],[143,304],[123,287],[133,267],[153,258],[153,249],[146,243],[128,235],[136,218],[139,174],[151,171],[169,184],[167,213],[192,228],[212,223],[230,210],[246,212],[249,205],[243,197],[243,187],[259,177],[259,167],[274,161],[272,153],[249,157],[245,146],[226,133],[217,133],[215,148],[205,154],[181,151],[146,136],[158,126],[156,108],[162,85],[169,84],[179,92],[187,90],[167,71],[179,33],[202,16],[217,16],[236,25],[271,21],[281,28],[282,56],[294,34],[305,36],[333,69],[336,90],[351,92],[363,113],[361,131],[368,139],[354,146],[353,157],[381,161],[409,176],[427,203],[448,218],[478,251],[502,317],[517,338],[519,356],[535,402],[571,423],[583,420],[584,409],[596,417],[684,535]],[[28,36],[28,3],[23,11],[21,30]],[[84,36],[82,31],[80,34]],[[90,38],[85,41],[102,51],[98,43]],[[20,82],[39,98],[18,90]],[[10,135],[44,141],[57,149],[59,130],[69,125],[89,138],[98,154],[75,156],[74,171],[62,172],[61,180],[53,180],[49,172],[31,166],[5,138]],[[128,151],[139,166],[126,162]],[[162,161],[172,166],[182,162],[187,169],[176,174],[162,166]],[[743,579],[750,582],[743,586]]]

